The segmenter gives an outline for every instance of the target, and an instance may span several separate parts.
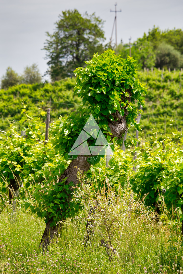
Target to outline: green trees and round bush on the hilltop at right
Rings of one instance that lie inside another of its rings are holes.
[[[129,44],[122,42],[115,49],[117,54],[126,58]],[[138,69],[142,68],[174,68],[183,67],[183,31],[181,29],[161,31],[153,27],[148,35],[144,33],[131,45],[131,56],[137,61]]]

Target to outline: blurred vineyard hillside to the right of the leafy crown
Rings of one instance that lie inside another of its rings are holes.
[[[154,69],[153,72],[140,71],[139,80],[148,90],[145,109],[140,120],[145,138],[150,136],[153,128],[163,135],[171,134],[172,131],[182,131],[182,71],[169,72],[158,69]]]

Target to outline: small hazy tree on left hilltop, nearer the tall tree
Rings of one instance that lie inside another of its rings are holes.
[[[22,75],[22,82],[25,84],[35,84],[41,82],[41,74],[38,68],[38,65],[32,64],[32,66],[27,66],[24,69],[24,73]]]

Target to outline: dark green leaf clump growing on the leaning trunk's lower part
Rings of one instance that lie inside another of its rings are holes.
[[[50,176],[50,180],[46,180],[45,183],[29,187],[29,191],[32,192],[29,198],[33,199],[24,202],[25,209],[30,207],[32,213],[36,213],[46,223],[53,219],[50,223],[51,227],[56,226],[65,218],[74,217],[78,213],[79,203],[76,204],[68,200],[68,194],[72,192],[69,187],[73,184],[67,185],[64,181],[59,182],[58,175],[57,181]]]

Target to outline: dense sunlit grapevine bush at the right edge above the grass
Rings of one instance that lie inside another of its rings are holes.
[[[176,142],[172,141],[173,137]],[[145,198],[148,206],[157,206],[163,194],[168,211],[179,210],[180,221],[183,220],[182,145],[182,137],[175,133],[162,141],[158,141],[155,136],[150,142],[143,143],[142,147],[137,149],[138,170],[131,181],[136,193],[141,196],[148,193]]]

